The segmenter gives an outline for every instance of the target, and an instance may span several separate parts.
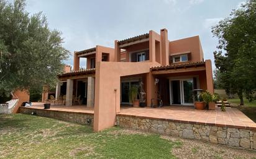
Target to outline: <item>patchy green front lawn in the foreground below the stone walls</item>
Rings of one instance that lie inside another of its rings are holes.
[[[0,115],[0,158],[175,158],[181,145],[156,134],[128,134],[25,114]]]

